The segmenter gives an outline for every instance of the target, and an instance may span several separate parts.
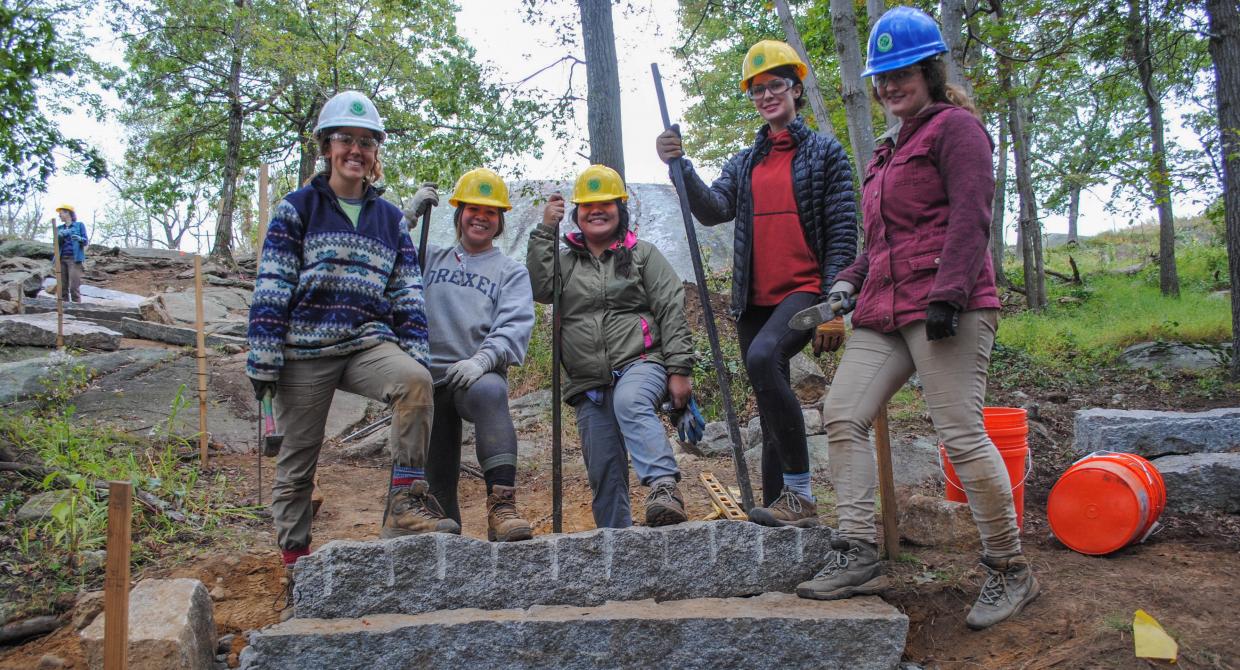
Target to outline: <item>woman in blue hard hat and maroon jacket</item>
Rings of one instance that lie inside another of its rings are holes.
[[[993,144],[968,97],[946,83],[946,51],[934,19],[911,7],[892,9],[870,32],[863,76],[899,123],[866,169],[866,251],[828,300],[846,311],[856,303],[823,412],[839,535],[797,594],[835,599],[883,587],[868,432],[916,372],[982,538],[987,579],[966,619],[980,629],[1021,612],[1038,581],[1021,553],[1012,484],[982,423],[999,310],[988,252]]]

